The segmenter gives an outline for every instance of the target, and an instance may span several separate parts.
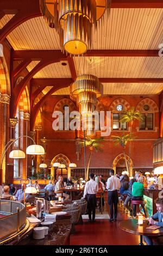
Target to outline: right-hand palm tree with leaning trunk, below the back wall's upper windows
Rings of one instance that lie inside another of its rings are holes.
[[[128,143],[130,143],[131,141],[133,141],[134,137],[133,135],[130,133],[130,134],[123,134],[122,136],[111,136],[111,137],[114,137],[114,144],[115,145],[121,145],[122,148],[123,148],[123,155],[124,155],[124,159],[125,159],[125,162],[126,162],[126,168],[127,168],[127,171],[129,173],[129,167],[128,167],[128,163],[127,163],[127,157],[126,157],[126,145]]]

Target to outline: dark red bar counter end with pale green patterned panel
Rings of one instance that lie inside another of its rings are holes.
[[[156,205],[154,203],[154,200],[159,197],[159,192],[161,190],[151,190],[146,189],[144,191],[144,200],[145,200],[145,206],[148,211],[148,215],[151,216],[157,212]]]

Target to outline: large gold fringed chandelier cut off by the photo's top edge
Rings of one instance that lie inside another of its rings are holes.
[[[80,55],[92,46],[92,25],[105,11],[110,12],[111,0],[40,0],[40,9],[49,27],[60,36],[62,51]]]

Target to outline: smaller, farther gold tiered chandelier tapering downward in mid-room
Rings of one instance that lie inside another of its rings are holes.
[[[79,111],[87,128],[87,135],[95,135],[95,118],[92,118],[92,112],[95,111],[97,97],[103,94],[103,86],[98,77],[80,75],[70,86],[70,92],[77,97]]]

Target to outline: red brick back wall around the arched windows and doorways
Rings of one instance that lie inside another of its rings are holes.
[[[105,111],[109,110],[110,104],[117,99],[117,96],[113,97],[101,97],[100,101],[103,103]],[[77,163],[78,168],[84,167],[84,153],[82,149],[82,154],[80,155],[80,160],[77,161],[76,156],[76,144],[75,132],[57,131],[52,129],[52,113],[55,106],[61,97],[48,97],[45,105],[43,105],[42,112],[42,131],[39,131],[39,138],[46,137],[48,139],[46,160],[52,160],[58,154],[64,154],[70,159],[71,162]],[[141,97],[128,97],[123,96],[130,106],[137,106],[137,104],[142,100]],[[151,97],[152,100],[156,102],[159,106],[159,96]],[[159,129],[157,132],[137,132],[136,127],[139,126],[139,122],[135,121],[133,125],[134,136],[139,141],[132,142],[131,147],[131,159],[133,160],[135,167],[152,167],[153,160],[153,142],[155,139],[159,138]],[[155,127],[159,127],[159,113],[155,113]],[[111,132],[111,135],[121,135],[122,132]],[[105,137],[104,149],[102,153],[93,153],[90,167],[101,167],[109,168],[112,167],[112,162],[115,157],[122,153],[122,148],[120,146],[115,147],[111,136]],[[128,147],[126,148],[126,153],[128,154]],[[89,158],[89,150],[87,150],[87,160]]]

